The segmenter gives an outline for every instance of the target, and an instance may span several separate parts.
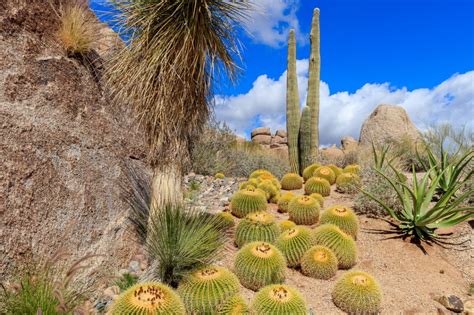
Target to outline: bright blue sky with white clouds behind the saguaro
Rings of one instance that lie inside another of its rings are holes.
[[[93,9],[101,10],[94,0]],[[323,144],[358,137],[379,103],[400,104],[419,128],[474,118],[474,1],[259,0],[240,32],[244,72],[216,92],[218,119],[240,135],[284,128],[286,38],[295,28],[299,88],[306,95],[309,31],[321,10]],[[98,14],[100,17],[100,13]],[[341,126],[334,126],[340,124]]]

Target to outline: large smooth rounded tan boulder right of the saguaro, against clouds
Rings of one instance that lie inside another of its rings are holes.
[[[383,144],[404,138],[417,142],[420,132],[403,107],[382,104],[362,124],[359,141],[363,145]]]

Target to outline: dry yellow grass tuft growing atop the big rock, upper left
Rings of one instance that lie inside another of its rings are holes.
[[[57,36],[69,55],[86,55],[96,47],[100,28],[85,1],[62,3],[56,14],[60,21]]]

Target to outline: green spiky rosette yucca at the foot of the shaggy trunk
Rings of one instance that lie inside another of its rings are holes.
[[[224,248],[226,227],[218,216],[165,206],[149,222],[145,248],[157,262],[157,278],[172,287],[192,269],[212,264]]]

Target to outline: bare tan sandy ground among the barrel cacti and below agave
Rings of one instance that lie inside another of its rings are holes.
[[[350,195],[339,194],[333,188],[331,196],[325,199],[325,208],[334,204],[352,206],[353,202]],[[278,220],[288,218],[286,214],[278,213],[273,204],[269,206],[269,212],[275,214]],[[384,294],[383,314],[427,314],[438,313],[438,310],[448,313],[434,298],[451,294],[462,300],[468,298],[468,287],[474,280],[474,250],[460,252],[439,246],[425,246],[427,254],[424,254],[408,241],[385,239],[386,235],[367,231],[389,229],[387,222],[365,216],[359,219],[358,262],[352,270],[369,272],[379,281]],[[468,223],[458,226],[453,232],[464,239],[471,238],[472,244],[473,233]],[[232,239],[228,247],[228,254],[221,263],[232,270],[237,253]],[[303,293],[314,313],[343,314],[332,303],[331,291],[335,280],[344,272],[339,270],[331,280],[317,280],[288,268],[285,283]],[[255,292],[244,287],[241,292],[249,301],[255,295]]]

